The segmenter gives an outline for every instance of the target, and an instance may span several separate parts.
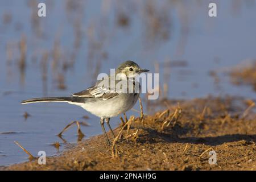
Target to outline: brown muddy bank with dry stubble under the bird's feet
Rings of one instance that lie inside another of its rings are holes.
[[[99,135],[69,146],[60,156],[48,157],[46,165],[35,160],[1,169],[256,170],[253,101],[207,97],[179,101],[179,105],[169,100],[159,103],[163,110],[145,115],[143,122],[131,118],[114,147]],[[115,129],[115,135],[121,128]],[[217,164],[208,162],[213,150]]]

